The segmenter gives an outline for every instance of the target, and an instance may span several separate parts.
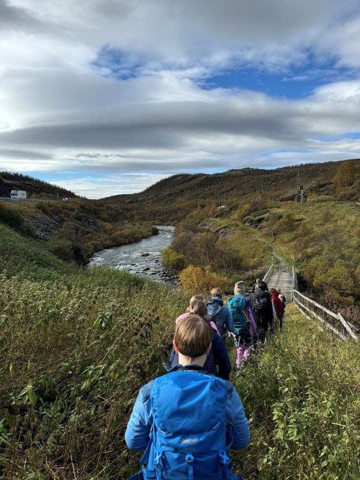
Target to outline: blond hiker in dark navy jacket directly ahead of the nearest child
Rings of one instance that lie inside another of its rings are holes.
[[[208,373],[216,375],[223,380],[228,380],[231,372],[231,363],[227,354],[226,346],[222,338],[220,337],[219,332],[212,325],[213,322],[208,321],[208,309],[205,302],[203,300],[196,300],[195,305],[196,312],[202,312],[201,315],[199,313],[197,313],[197,315],[206,322],[208,322],[212,330],[211,349],[205,361],[204,368],[208,371]],[[182,318],[179,317],[180,319],[176,319],[177,325],[179,325],[181,322],[184,322],[184,320],[186,320],[186,318],[188,318],[188,316],[190,316],[191,314],[192,313],[188,315],[181,315]],[[172,348],[169,364],[171,365],[171,367],[179,364],[179,354],[176,352],[175,348]]]

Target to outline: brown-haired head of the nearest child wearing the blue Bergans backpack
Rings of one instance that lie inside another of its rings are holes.
[[[204,366],[211,342],[211,326],[199,315],[188,315],[176,325],[173,346],[181,365]]]

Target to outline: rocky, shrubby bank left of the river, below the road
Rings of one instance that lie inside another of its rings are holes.
[[[155,233],[150,223],[124,220],[118,206],[74,198],[67,202],[0,202],[0,220],[44,240],[61,260],[86,264],[95,251]]]

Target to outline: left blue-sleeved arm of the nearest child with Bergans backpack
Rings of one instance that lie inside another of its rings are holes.
[[[148,385],[146,385],[148,388]],[[150,411],[150,395],[144,403],[143,392],[144,387],[139,391],[136,402],[133,407],[128,426],[125,432],[125,442],[131,450],[145,450],[150,439],[151,420],[149,418]],[[149,403],[149,404],[148,404]]]

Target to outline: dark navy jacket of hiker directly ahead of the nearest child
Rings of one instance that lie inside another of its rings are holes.
[[[179,354],[173,348],[170,355],[169,364],[171,366],[179,365]],[[212,333],[212,345],[204,368],[208,373],[216,375],[223,380],[228,380],[231,372],[231,364],[227,355],[226,346],[216,332]]]

